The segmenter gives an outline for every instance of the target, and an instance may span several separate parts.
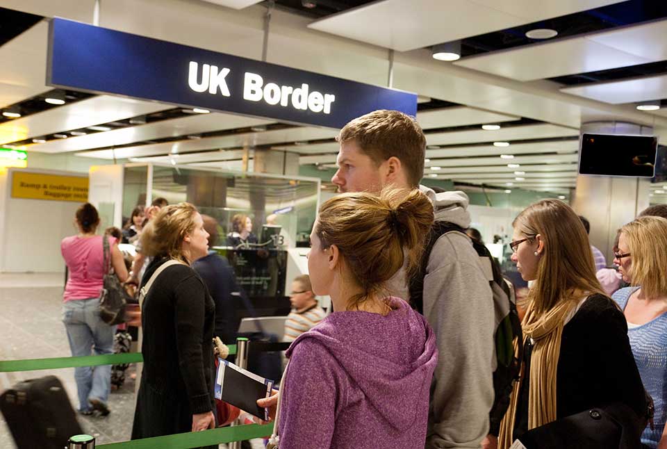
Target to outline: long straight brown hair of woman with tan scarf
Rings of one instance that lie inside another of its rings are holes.
[[[562,300],[575,299],[575,289],[604,295],[595,277],[586,229],[570,206],[557,199],[544,199],[524,209],[512,226],[530,240],[540,234],[544,242],[535,284],[528,293],[536,313],[542,315]]]

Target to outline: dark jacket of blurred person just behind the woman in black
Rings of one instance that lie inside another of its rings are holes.
[[[213,334],[219,336],[223,343],[236,343],[238,329],[236,317],[236,301],[231,295],[238,292],[234,270],[224,257],[216,252],[209,252],[192,264],[192,268],[204,279],[204,284],[211,293],[215,303],[215,330]]]

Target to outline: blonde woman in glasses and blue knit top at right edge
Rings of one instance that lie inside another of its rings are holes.
[[[612,298],[627,319],[628,337],[646,391],[655,404],[654,429],[641,442],[667,448],[667,220],[641,217],[620,230],[614,263],[632,284]]]

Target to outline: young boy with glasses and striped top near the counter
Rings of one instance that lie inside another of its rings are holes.
[[[308,331],[327,316],[324,309],[318,305],[318,300],[315,299],[311,278],[308,275],[294,278],[290,302],[293,309],[285,322],[283,341],[295,341],[297,336]]]

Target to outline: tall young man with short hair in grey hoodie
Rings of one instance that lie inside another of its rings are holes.
[[[436,194],[419,185],[426,137],[412,117],[374,111],[345,125],[338,142],[338,171],[331,182],[340,192],[376,193],[389,184],[420,188],[434,204],[436,222],[470,226],[465,193]],[[392,282],[392,293],[407,300],[408,279],[400,275]],[[479,449],[494,396],[494,309],[488,279],[467,236],[451,232],[436,241],[424,278],[423,307],[440,354],[426,447]]]

